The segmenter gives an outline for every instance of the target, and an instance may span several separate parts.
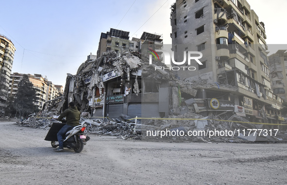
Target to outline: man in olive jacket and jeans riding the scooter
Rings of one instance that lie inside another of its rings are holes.
[[[61,130],[57,133],[57,138],[59,142],[59,147],[54,149],[54,151],[64,151],[63,135],[67,133],[70,128],[80,125],[81,113],[78,111],[74,102],[69,102],[68,109],[66,109],[57,120],[61,121],[66,117],[67,124],[64,125]]]

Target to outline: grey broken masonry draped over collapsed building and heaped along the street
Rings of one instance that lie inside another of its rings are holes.
[[[137,61],[137,62],[135,62]],[[100,64],[103,63],[103,67]],[[95,60],[87,60],[83,63],[77,72],[77,75],[68,74],[67,82],[65,86],[65,94],[63,97],[49,101],[45,103],[45,106],[38,115],[32,115],[30,118],[18,123],[22,126],[40,128],[48,130],[53,122],[58,122],[54,119],[59,116],[62,109],[64,109],[65,101],[76,101],[78,109],[82,112],[81,123],[85,122],[86,133],[101,134],[101,135],[113,135],[119,136],[123,139],[144,139],[144,140],[176,140],[176,141],[191,141],[191,142],[246,142],[246,141],[287,141],[287,136],[284,133],[277,133],[277,136],[258,136],[253,137],[243,137],[236,136],[148,136],[146,134],[147,130],[162,131],[162,130],[179,130],[187,133],[188,131],[205,131],[217,130],[217,131],[234,131],[234,130],[244,130],[262,127],[263,125],[254,125],[250,123],[238,123],[233,121],[248,122],[244,118],[238,117],[236,115],[232,116],[226,121],[219,121],[217,117],[205,117],[203,118],[200,114],[195,114],[191,111],[185,114],[176,114],[180,110],[175,111],[173,116],[169,116],[166,119],[152,119],[152,120],[135,120],[126,115],[122,115],[117,119],[109,118],[93,118],[89,116],[88,102],[91,100],[92,89],[97,85],[100,89],[104,87],[101,81],[101,73],[106,73],[113,69],[118,69],[122,74],[131,70],[138,69],[140,67],[145,67],[148,69],[151,67],[148,64],[148,59],[140,56],[138,52],[135,51],[125,51],[117,54],[114,51],[108,51],[104,53],[100,58]],[[156,65],[156,63],[154,63]],[[172,73],[166,71],[160,71],[149,73],[152,78],[157,80],[167,80],[170,81],[171,86],[180,86],[182,92],[186,92],[190,95],[195,96],[197,90],[205,86],[217,86],[217,84],[206,84],[201,82],[185,82],[176,78]],[[87,77],[92,76],[89,86],[85,85],[84,80]],[[171,83],[172,82],[172,83]],[[191,87],[191,84],[192,87]],[[231,88],[231,87],[230,87]],[[139,92],[138,89],[133,89],[135,92]],[[101,90],[100,90],[101,92]],[[66,107],[67,108],[67,107]],[[169,119],[171,118],[171,119]],[[176,118],[176,119],[174,119]],[[188,119],[192,118],[192,119]]]

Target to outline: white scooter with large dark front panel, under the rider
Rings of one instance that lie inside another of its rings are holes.
[[[51,146],[57,148],[59,146],[57,133],[64,126],[63,123],[54,122],[45,137],[46,141],[51,141]],[[86,128],[85,122],[69,129],[64,137],[64,147],[73,149],[75,152],[80,153],[84,149],[84,145],[90,139],[88,135],[84,134]]]

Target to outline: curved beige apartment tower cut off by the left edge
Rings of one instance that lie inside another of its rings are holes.
[[[0,34],[0,110],[6,107],[9,81],[16,49],[12,41]]]

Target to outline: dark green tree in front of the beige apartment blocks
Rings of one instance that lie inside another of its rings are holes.
[[[14,100],[14,108],[19,113],[19,117],[24,114],[32,113],[37,110],[34,102],[36,101],[36,90],[33,84],[29,81],[26,74],[23,75],[23,79],[18,84],[18,91]]]

